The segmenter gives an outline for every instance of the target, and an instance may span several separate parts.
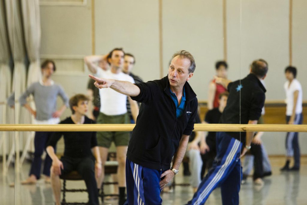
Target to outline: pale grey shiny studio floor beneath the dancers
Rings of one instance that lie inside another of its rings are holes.
[[[240,204],[253,205],[303,205],[307,204],[307,157],[301,158],[301,170],[299,172],[279,171],[284,164],[283,157],[270,157],[273,175],[264,179],[265,185],[259,187],[254,185],[251,178],[241,186]],[[2,164],[0,164],[2,166]],[[41,179],[36,185],[20,185],[20,179],[25,179],[28,175],[30,164],[22,166],[22,172],[14,175],[14,168],[11,167],[9,174],[0,179],[0,204],[1,205],[53,205],[52,189],[50,184],[45,184]],[[182,170],[182,167],[180,168]],[[110,178],[110,177],[107,177]],[[11,188],[9,184],[16,182],[16,186]],[[189,182],[188,176],[183,176],[182,171],[176,176],[176,183]],[[68,182],[68,187],[84,188],[83,181]],[[107,188],[110,192],[113,187]],[[163,193],[163,204],[185,204],[192,198],[192,188],[176,186],[170,193]],[[87,193],[67,194],[68,200],[86,201]],[[115,200],[106,200],[104,204],[118,204]],[[209,205],[219,205],[221,203],[220,189],[212,192],[207,203]]]

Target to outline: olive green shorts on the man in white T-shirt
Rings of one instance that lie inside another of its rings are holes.
[[[128,114],[105,115],[99,112],[97,124],[129,124]],[[128,146],[130,132],[97,132],[97,144],[99,147],[110,148],[112,141],[115,146]]]

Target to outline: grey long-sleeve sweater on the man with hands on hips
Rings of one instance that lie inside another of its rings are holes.
[[[39,82],[33,83],[19,98],[21,105],[27,103],[26,98],[30,94],[34,97],[37,120],[49,120],[52,118],[52,113],[56,111],[56,99],[58,95],[62,98],[66,107],[69,107],[68,97],[60,85],[53,84],[51,86],[44,86]]]

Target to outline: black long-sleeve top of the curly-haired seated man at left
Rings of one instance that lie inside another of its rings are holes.
[[[61,121],[60,124],[75,124],[71,117]],[[85,116],[83,124],[95,124],[95,121]],[[55,147],[57,141],[64,136],[64,156],[81,158],[92,155],[91,148],[97,146],[96,132],[54,132],[47,147]]]

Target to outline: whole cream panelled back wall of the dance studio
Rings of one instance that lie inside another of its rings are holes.
[[[227,0],[227,61],[229,79],[243,78],[250,63],[269,63],[267,100],[285,98],[284,69],[289,64],[289,1]],[[240,5],[242,2],[242,5]],[[145,81],[158,79],[159,1],[95,0],[95,53],[123,47],[136,57],[134,73]],[[293,1],[293,65],[307,99],[307,13],[304,0]],[[54,80],[69,96],[85,93],[87,68],[83,56],[91,54],[91,1],[85,6],[41,6],[41,57],[57,64]],[[241,12],[242,11],[242,12]],[[172,54],[190,51],[196,60],[190,83],[199,100],[206,100],[214,65],[223,59],[222,0],[162,1],[163,75]],[[70,114],[69,110],[64,116]],[[301,151],[307,154],[307,134],[301,133]],[[285,133],[265,133],[269,154],[284,153]]]

